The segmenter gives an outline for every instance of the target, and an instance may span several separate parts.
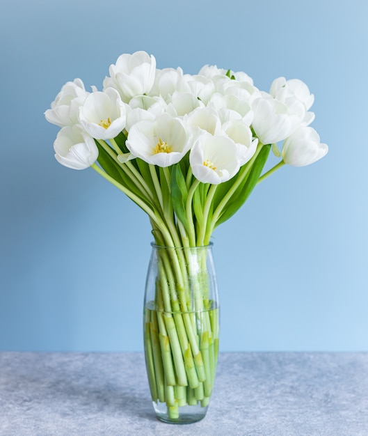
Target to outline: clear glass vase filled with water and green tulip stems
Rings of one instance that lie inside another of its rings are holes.
[[[152,244],[144,302],[147,376],[156,416],[167,423],[205,417],[218,357],[218,293],[212,245]]]

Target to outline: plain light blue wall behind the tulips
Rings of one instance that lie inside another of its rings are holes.
[[[150,225],[54,159],[43,113],[102,88],[122,53],[158,68],[299,78],[330,151],[258,185],[216,230],[221,350],[368,350],[368,3],[13,0],[0,15],[0,349],[142,350]],[[269,166],[273,164],[272,159]]]

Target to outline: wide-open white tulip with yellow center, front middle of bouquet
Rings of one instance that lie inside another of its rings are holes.
[[[134,124],[126,144],[132,155],[157,166],[177,164],[191,146],[182,120],[169,114]]]

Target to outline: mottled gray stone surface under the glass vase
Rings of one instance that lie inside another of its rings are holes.
[[[147,386],[141,353],[0,352],[0,435],[368,435],[367,353],[223,353],[206,418],[182,426]]]

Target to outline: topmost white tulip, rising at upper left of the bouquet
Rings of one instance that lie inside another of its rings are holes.
[[[115,65],[110,65],[111,77],[105,77],[104,89],[115,88],[119,91],[123,101],[136,95],[150,93],[156,74],[156,59],[146,52],[122,54]]]

